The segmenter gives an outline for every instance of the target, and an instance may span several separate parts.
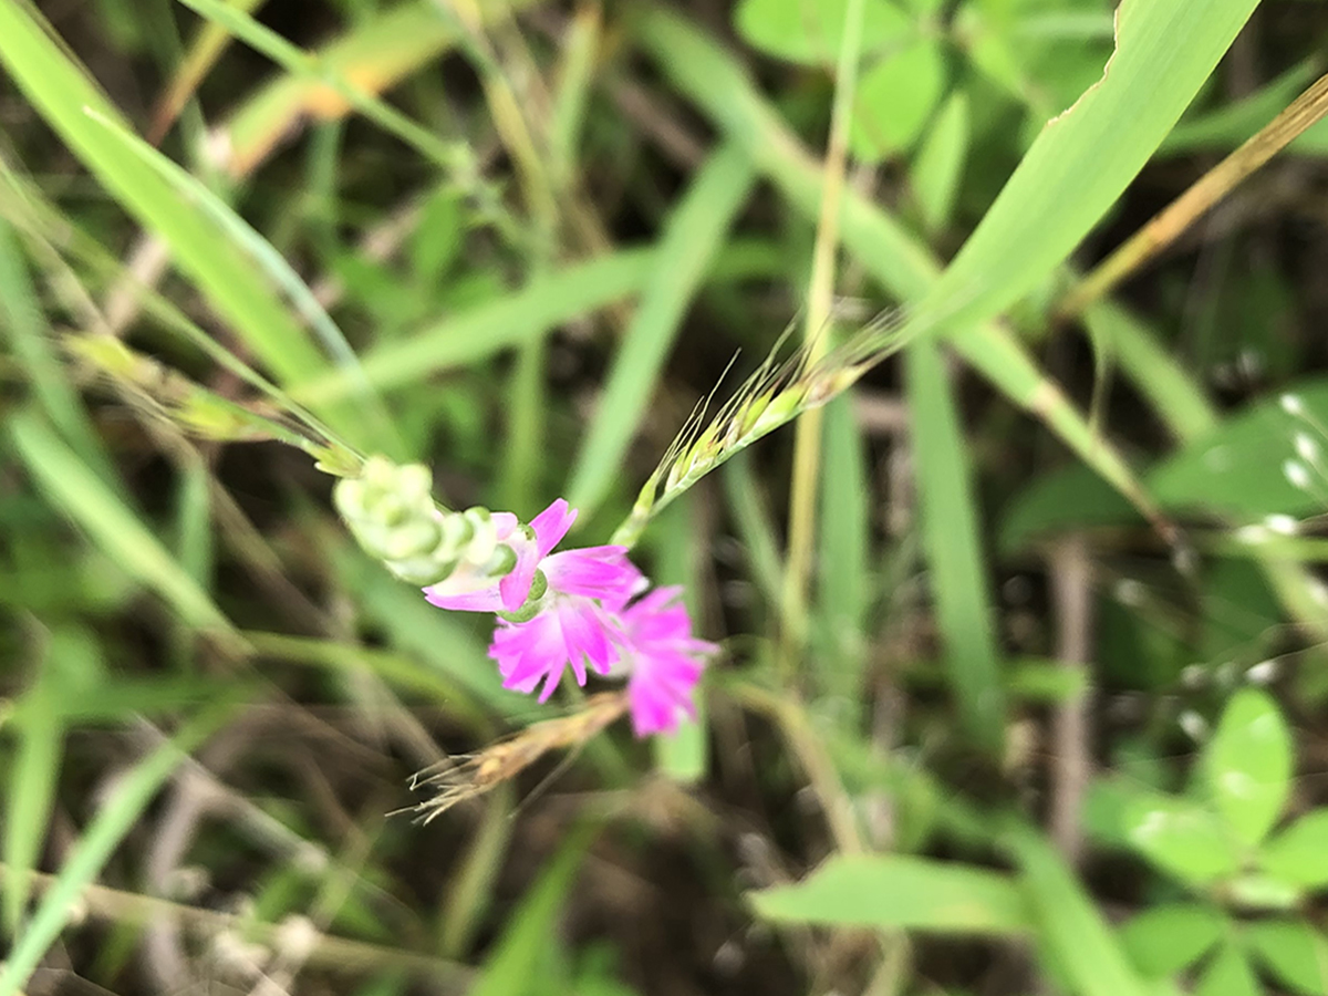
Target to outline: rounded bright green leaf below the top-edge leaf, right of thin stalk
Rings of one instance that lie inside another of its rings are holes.
[[[865,162],[910,149],[944,92],[946,57],[935,39],[888,52],[858,82],[849,149]]]

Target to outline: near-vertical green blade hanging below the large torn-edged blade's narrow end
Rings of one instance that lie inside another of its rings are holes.
[[[927,339],[914,341],[904,368],[923,546],[950,684],[968,734],[1000,757],[1005,695],[987,599],[991,586],[979,539],[968,450],[940,345]]]

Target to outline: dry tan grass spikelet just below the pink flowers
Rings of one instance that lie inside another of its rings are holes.
[[[580,748],[627,712],[625,692],[602,692],[586,700],[586,708],[571,716],[542,720],[521,733],[490,744],[478,754],[469,754],[461,764],[440,772],[421,772],[410,780],[410,788],[437,788],[433,797],[408,813],[414,813],[421,823],[429,823],[459,802],[478,798],[491,791],[535,764],[550,750]]]

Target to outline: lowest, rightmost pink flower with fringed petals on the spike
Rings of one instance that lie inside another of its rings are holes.
[[[705,656],[718,649],[692,636],[681,588],[656,588],[618,615],[627,700],[636,736],[673,733],[683,716],[695,720],[692,692]]]

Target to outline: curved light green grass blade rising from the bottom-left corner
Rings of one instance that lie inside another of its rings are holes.
[[[234,706],[231,701],[207,706],[169,742],[153,750],[121,778],[116,793],[88,825],[69,861],[42,896],[27,931],[17,938],[0,967],[0,996],[15,996],[21,991],[41,956],[69,922],[78,892],[97,878],[125,834],[138,822],[147,803],[189,752],[216,732],[231,716]]]

